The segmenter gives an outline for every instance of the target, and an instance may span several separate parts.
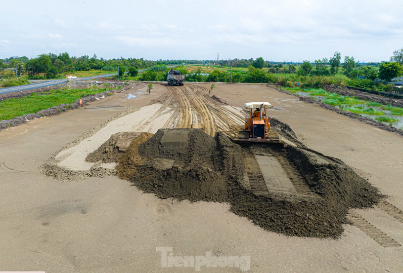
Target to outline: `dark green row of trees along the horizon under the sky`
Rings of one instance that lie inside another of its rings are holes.
[[[27,57],[19,58],[9,58],[0,60],[0,71],[6,68],[16,68],[17,75],[28,73],[30,78],[41,78],[39,76],[44,74],[45,78],[56,78],[60,74],[73,73],[74,71],[88,71],[88,70],[105,70],[105,71],[116,71],[117,67],[120,67],[120,76],[123,76],[125,72],[129,72],[130,76],[135,77],[139,69],[146,69],[153,67],[153,71],[156,73],[163,72],[166,69],[166,64],[173,63],[183,63],[197,64],[203,63],[203,61],[197,60],[159,60],[157,62],[147,61],[144,59],[134,59],[134,58],[120,58],[112,60],[104,60],[103,58],[98,59],[94,54],[91,58],[87,55],[82,57],[70,57],[67,52],[60,53],[59,55],[49,53],[39,55],[37,58],[28,59]],[[209,62],[209,61],[208,61]],[[214,61],[213,61],[214,62]],[[251,59],[233,59],[233,60],[222,60],[220,61],[222,65],[232,66],[232,67],[253,67],[255,69],[262,69],[265,67],[269,68],[269,73],[297,73],[299,76],[330,76],[339,73],[341,67],[341,54],[340,52],[335,52],[329,59],[322,58],[314,60],[313,63],[310,61],[304,61],[300,68],[293,64],[283,67],[283,63],[272,63],[265,61],[262,57],[254,60]],[[157,66],[155,66],[157,64]],[[391,77],[401,76],[403,64],[403,48],[393,52],[391,57],[391,62],[381,63],[379,65],[379,75],[378,71],[371,66],[359,66],[354,57],[345,56],[343,62],[343,73],[348,78],[356,78],[357,76],[365,76],[368,79],[376,79],[378,76],[381,79],[390,80]],[[158,71],[158,67],[161,71]],[[249,69],[250,71],[250,69]],[[249,73],[249,72],[248,72]],[[260,73],[260,72],[259,72]],[[238,77],[236,74],[233,75],[235,80]],[[165,77],[165,76],[164,76]],[[213,73],[213,78],[222,78],[223,76]]]

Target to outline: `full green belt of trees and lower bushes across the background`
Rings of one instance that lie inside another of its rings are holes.
[[[119,76],[134,80],[166,80],[167,65],[178,65],[177,70],[186,74],[186,81],[212,81],[212,82],[274,82],[282,86],[291,86],[295,82],[302,83],[306,87],[320,87],[326,84],[354,85],[362,88],[384,90],[392,88],[384,81],[403,75],[403,48],[393,52],[390,62],[358,63],[354,57],[345,56],[343,62],[340,52],[333,56],[318,60],[303,61],[302,63],[283,63],[265,61],[262,57],[256,59],[232,59],[220,60],[158,60],[149,61],[143,58],[119,58],[105,60],[98,59],[94,54],[91,58],[70,57],[64,52],[59,55],[49,53],[39,55],[37,58],[27,57],[8,58],[0,60],[0,71],[7,68],[16,68],[17,75],[28,74],[30,79],[62,78],[62,74],[75,71],[117,71]],[[186,64],[187,66],[181,66]],[[190,71],[189,65],[213,64],[216,69],[205,75],[200,67],[196,71]],[[224,69],[223,69],[224,67]],[[227,68],[234,68],[232,73]],[[219,69],[221,68],[221,69]],[[236,69],[247,68],[247,69]],[[145,70],[138,73],[138,70]],[[124,74],[124,72],[129,72]],[[14,72],[15,73],[15,72]],[[10,75],[10,74],[9,74]],[[15,74],[14,74],[15,75]],[[365,80],[357,81],[355,78],[364,76]]]

